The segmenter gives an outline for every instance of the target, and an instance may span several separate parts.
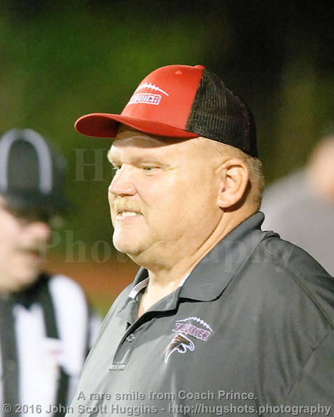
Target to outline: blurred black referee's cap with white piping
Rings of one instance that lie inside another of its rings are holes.
[[[0,138],[0,194],[9,208],[63,214],[66,162],[39,133],[11,129]]]

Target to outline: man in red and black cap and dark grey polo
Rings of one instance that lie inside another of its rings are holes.
[[[76,128],[115,138],[113,243],[142,268],[111,307],[68,415],[333,415],[334,281],[261,231],[241,100],[204,67],[171,65],[121,115]]]

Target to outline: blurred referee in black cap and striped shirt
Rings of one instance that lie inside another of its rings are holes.
[[[37,132],[0,139],[1,416],[64,415],[100,325],[72,279],[41,271],[64,173]]]

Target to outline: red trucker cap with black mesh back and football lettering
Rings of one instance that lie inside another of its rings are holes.
[[[75,128],[86,136],[115,138],[120,123],[157,136],[202,136],[257,157],[252,113],[202,65],[161,67],[143,79],[120,115],[85,115]]]

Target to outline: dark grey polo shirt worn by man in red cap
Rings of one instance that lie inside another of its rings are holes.
[[[334,280],[261,231],[263,218],[225,236],[140,318],[148,272],[138,272],[106,316],[69,416],[333,415]]]

